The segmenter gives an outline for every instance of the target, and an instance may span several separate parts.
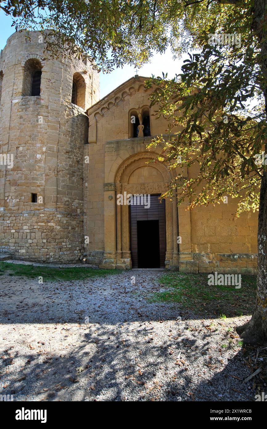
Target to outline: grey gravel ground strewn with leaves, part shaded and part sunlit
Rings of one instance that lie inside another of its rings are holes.
[[[150,303],[160,271],[38,283],[0,277],[0,394],[15,401],[255,400],[232,328]],[[135,276],[135,284],[131,277]],[[181,320],[180,320],[181,319]]]

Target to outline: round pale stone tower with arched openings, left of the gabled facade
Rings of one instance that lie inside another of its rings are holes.
[[[84,252],[85,110],[99,100],[87,59],[44,59],[39,32],[0,54],[0,251],[72,262]]]

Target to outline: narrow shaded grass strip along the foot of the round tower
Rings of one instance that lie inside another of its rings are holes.
[[[70,267],[70,268],[52,268],[48,266],[34,266],[24,264],[12,264],[7,262],[0,262],[0,272],[7,272],[8,275],[38,278],[42,276],[43,281],[57,281],[57,280],[83,280],[93,277],[105,277],[106,275],[119,274],[122,270],[112,269],[94,269],[85,266]]]

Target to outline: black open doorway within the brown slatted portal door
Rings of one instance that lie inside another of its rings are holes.
[[[138,268],[159,268],[159,221],[137,221]]]

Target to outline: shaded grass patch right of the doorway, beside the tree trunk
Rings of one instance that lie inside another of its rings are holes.
[[[241,288],[208,285],[207,274],[174,272],[162,275],[159,284],[165,290],[153,293],[150,302],[179,302],[198,314],[226,317],[252,314],[256,299],[257,278],[242,275]]]

